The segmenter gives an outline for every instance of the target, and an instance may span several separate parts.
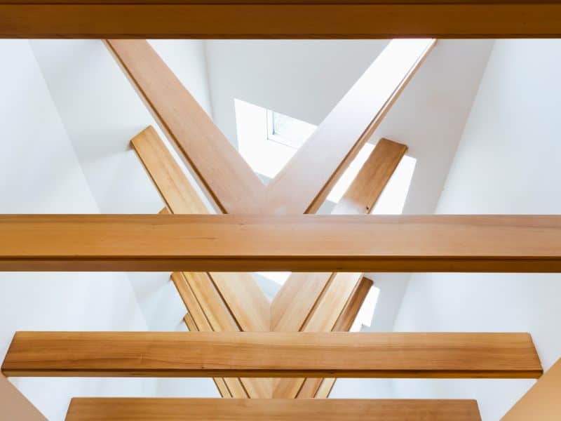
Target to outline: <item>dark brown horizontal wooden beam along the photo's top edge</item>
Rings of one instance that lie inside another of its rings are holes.
[[[4,0],[4,38],[558,38],[554,0]]]

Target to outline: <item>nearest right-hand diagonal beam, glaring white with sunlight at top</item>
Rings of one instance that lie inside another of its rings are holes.
[[[269,183],[262,213],[315,213],[434,44],[391,41]]]

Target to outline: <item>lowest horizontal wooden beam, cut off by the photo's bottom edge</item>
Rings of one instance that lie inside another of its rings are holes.
[[[476,401],[74,398],[66,421],[480,421]]]

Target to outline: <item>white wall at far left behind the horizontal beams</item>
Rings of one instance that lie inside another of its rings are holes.
[[[0,41],[0,213],[98,213],[28,41]],[[1,234],[0,234],[1,235]],[[0,273],[0,359],[15,330],[145,330],[124,274]],[[12,379],[49,420],[72,396],[154,392],[151,380]]]

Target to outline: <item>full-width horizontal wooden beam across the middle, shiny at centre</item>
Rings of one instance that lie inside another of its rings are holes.
[[[3,271],[561,272],[560,215],[2,215]]]

